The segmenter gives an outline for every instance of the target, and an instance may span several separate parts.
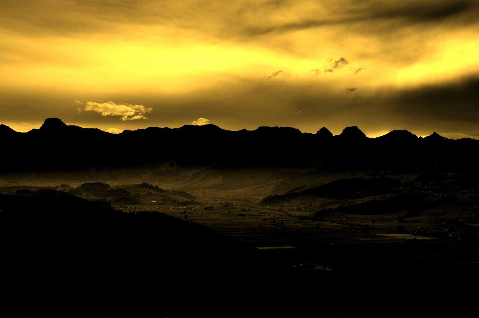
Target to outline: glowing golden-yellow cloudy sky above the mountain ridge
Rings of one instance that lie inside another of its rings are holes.
[[[0,124],[479,139],[477,0],[2,0]]]

